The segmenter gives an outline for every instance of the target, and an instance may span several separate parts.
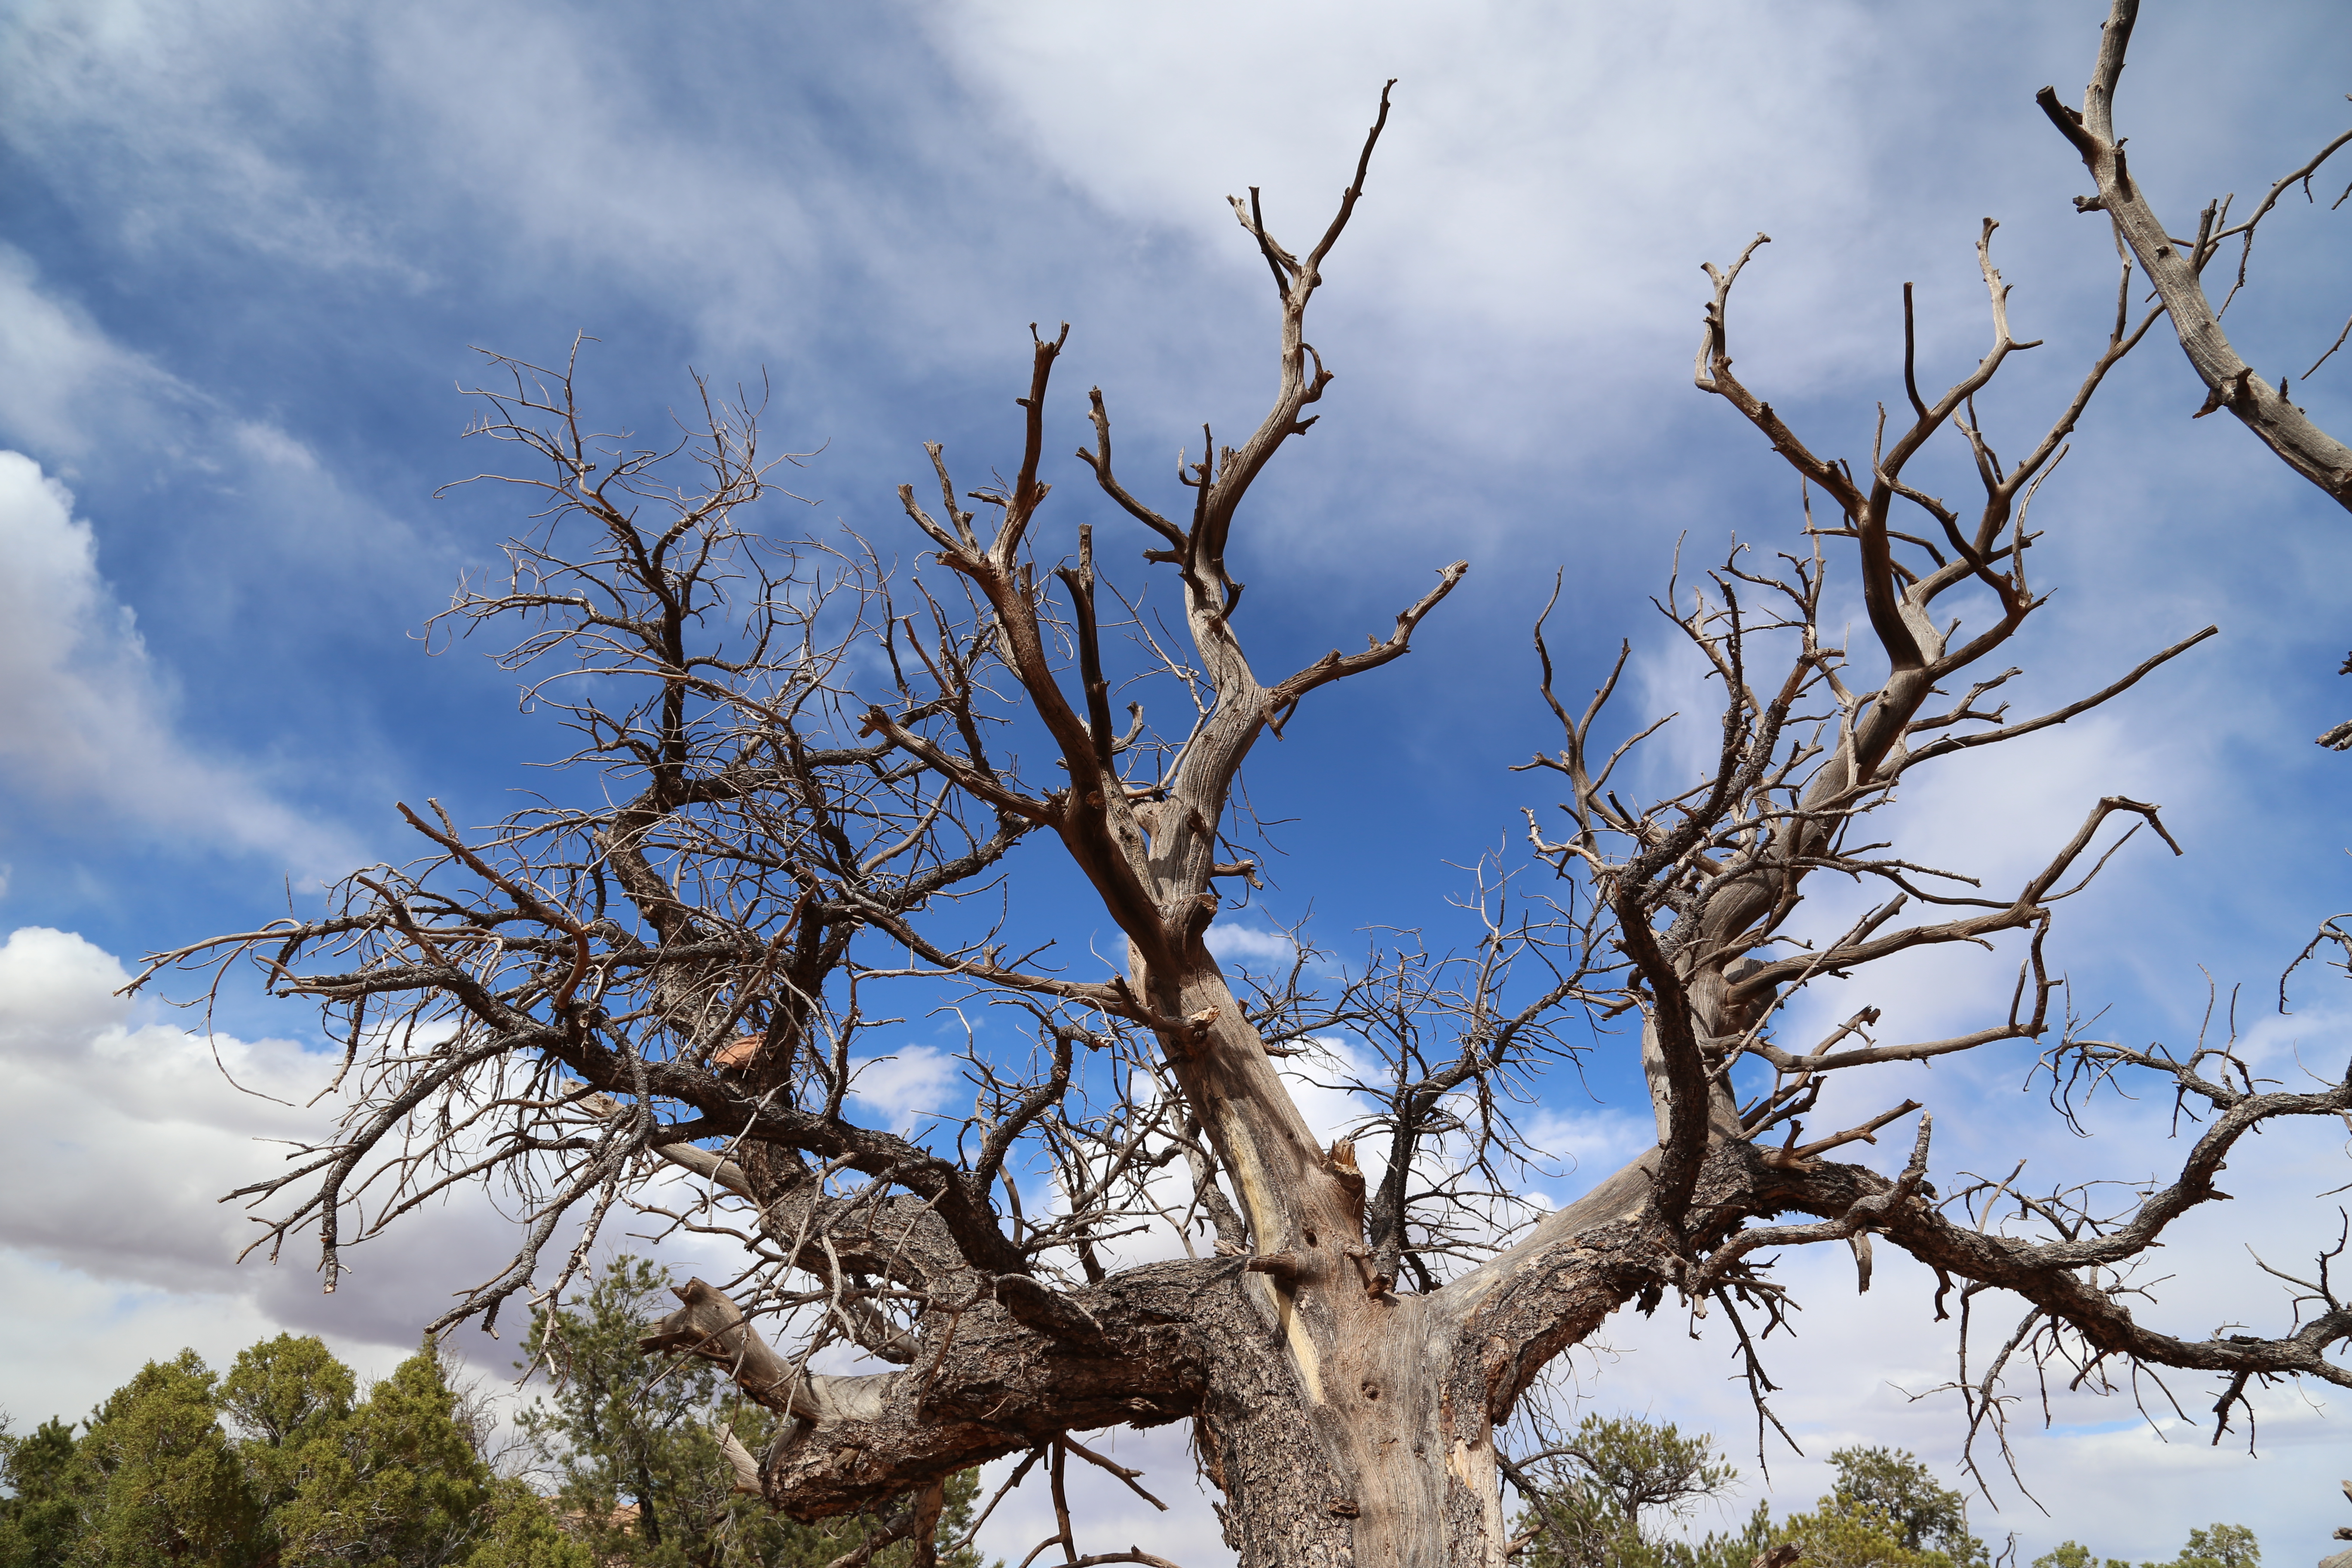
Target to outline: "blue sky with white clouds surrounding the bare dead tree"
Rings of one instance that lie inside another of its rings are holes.
[[[1689,386],[1700,261],[1773,235],[1736,301],[1740,369],[1818,447],[1863,456],[1872,402],[1900,395],[1900,282],[1919,289],[1924,378],[1980,353],[1971,242],[1994,214],[2016,327],[2049,346],[1987,416],[2013,444],[2063,400],[2114,263],[2030,99],[2079,94],[2100,12],[7,5],[0,1046],[40,1088],[0,1117],[12,1192],[42,1197],[0,1232],[16,1319],[0,1403],[73,1413],[146,1354],[219,1354],[275,1324],[388,1366],[459,1284],[435,1260],[496,1239],[445,1215],[379,1265],[381,1288],[332,1305],[299,1262],[228,1272],[233,1220],[207,1199],[263,1159],[249,1138],[294,1124],[207,1088],[186,1016],[106,999],[115,961],[402,853],[393,799],[482,820],[543,755],[510,677],[419,642],[517,522],[492,494],[433,498],[485,463],[459,442],[470,346],[546,360],[588,331],[590,388],[640,428],[684,400],[687,367],[764,374],[771,440],[821,449],[795,487],[913,559],[891,491],[920,477],[924,440],[967,468],[1007,461],[1033,320],[1073,324],[1051,449],[1082,437],[1091,383],[1122,451],[1251,423],[1272,310],[1223,197],[1261,186],[1277,233],[1319,228],[1381,80],[1402,78],[1310,331],[1341,378],[1254,501],[1240,576],[1251,637],[1284,665],[1385,628],[1454,557],[1472,574],[1409,661],[1317,698],[1254,762],[1261,811],[1298,820],[1265,907],[1225,922],[1263,933],[1312,910],[1338,947],[1374,924],[1442,931],[1458,865],[1548,802],[1508,764],[1550,738],[1526,628],[1552,571],[1562,686],[1590,686],[1630,637],[1628,696],[1665,710],[1696,691],[1646,604],[1675,541],[1795,531],[1790,475]],[[2187,226],[2209,195],[2244,202],[2340,129],[2347,33],[2324,5],[2152,5],[2122,122],[2159,212]],[[2352,212],[2331,216],[2331,193],[2279,214],[2230,329],[2343,433],[2352,364],[2300,383],[2352,310]],[[2018,654],[2020,708],[2206,621],[2223,637],[1900,806],[1917,842],[1994,877],[2103,792],[2166,806],[2187,858],[2136,844],[2056,943],[2077,1001],[2126,1039],[2194,1032],[2206,973],[2260,1013],[2310,926],[2352,905],[2352,759],[2310,743],[2352,712],[2333,675],[2352,644],[2343,512],[2232,423],[2192,423],[2199,397],[2150,339],[2037,503],[2058,604]],[[1115,527],[1080,484],[1054,505],[1063,529]],[[1987,964],[1889,973],[1870,999],[1889,1027],[1969,1027],[1987,985],[2006,997]],[[2317,980],[2305,997],[2260,1025],[2265,1048],[2340,1058],[2343,1006]],[[219,1027],[268,1081],[301,1079],[310,1020],[230,994]],[[2145,1175],[2171,1157],[2152,1107],[2072,1145],[2023,1114],[2039,1100],[2020,1079],[2020,1058],[1926,1079],[1955,1164]],[[1611,1058],[1590,1081],[1604,1103],[1564,1081],[1548,1105],[1571,1168],[1555,1197],[1606,1168],[1639,1112]],[[1903,1093],[1870,1093],[1886,1088]],[[2298,1258],[2333,1220],[2312,1194],[2343,1180],[2340,1150],[2274,1143],[2230,1222],[2166,1260],[2183,1331],[2274,1312],[2239,1239]],[[1860,1302],[1828,1260],[1795,1269],[1816,1288],[1780,1371],[1813,1460],[1776,1462],[1776,1502],[1809,1502],[1842,1441],[1947,1462],[1950,1403],[1889,1392],[1950,1368],[1903,1269],[1882,1265]],[[1578,1375],[1602,1408],[1736,1443],[1722,1347],[1677,1340],[1679,1324],[1632,1324]],[[2194,1432],[2157,1446],[2112,1406],[2063,1406],[2030,1443],[2053,1516],[2009,1493],[1992,1533],[2020,1530],[2027,1556],[2060,1535],[2169,1556],[2230,1516],[2293,1561],[2340,1523],[2340,1401],[2277,1396],[2253,1460]],[[1218,1561],[1202,1516],[1188,1563]]]

